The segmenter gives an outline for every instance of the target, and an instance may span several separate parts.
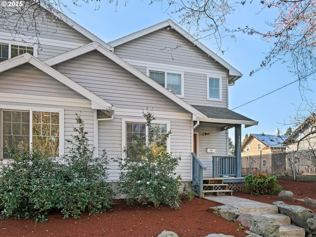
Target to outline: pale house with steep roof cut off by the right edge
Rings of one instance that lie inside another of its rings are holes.
[[[286,151],[316,149],[316,118],[311,115],[284,141]]]

